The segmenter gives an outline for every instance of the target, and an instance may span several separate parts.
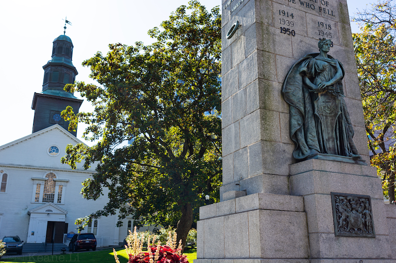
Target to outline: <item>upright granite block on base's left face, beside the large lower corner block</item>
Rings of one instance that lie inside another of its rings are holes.
[[[224,217],[224,247],[226,258],[249,258],[249,222],[247,213]]]

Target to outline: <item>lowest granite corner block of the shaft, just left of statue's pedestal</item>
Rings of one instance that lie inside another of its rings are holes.
[[[289,177],[273,174],[260,174],[239,181],[239,189],[246,190],[247,194],[274,193],[289,194]]]

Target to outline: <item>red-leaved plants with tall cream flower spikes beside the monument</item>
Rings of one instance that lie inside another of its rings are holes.
[[[133,233],[129,233],[126,238],[128,246],[125,246],[126,252],[129,255],[128,263],[189,263],[186,255],[182,254],[182,241],[180,240],[179,246],[177,246],[176,233],[172,236],[169,232],[168,241],[166,245],[161,246],[161,242],[156,241],[156,236],[150,241],[148,236],[147,252],[143,252],[144,239],[142,236],[138,236],[136,232],[136,226]],[[117,253],[114,251],[114,258],[116,263],[120,263],[117,257]]]

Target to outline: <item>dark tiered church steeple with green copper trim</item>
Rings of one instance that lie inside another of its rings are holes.
[[[72,63],[73,47],[71,39],[65,35],[53,40],[51,59],[43,66],[43,91],[35,93],[33,97],[33,132],[56,123],[68,130],[69,123],[60,117],[60,112],[71,106],[74,113],[78,113],[83,103],[73,93],[63,90],[65,84],[73,83],[78,74]],[[77,131],[70,133],[77,135]]]

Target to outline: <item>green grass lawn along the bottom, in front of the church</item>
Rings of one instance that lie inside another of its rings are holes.
[[[125,249],[116,249],[118,259],[120,263],[128,262],[128,255],[125,253]],[[197,258],[197,249],[186,249],[185,253],[187,255],[189,263],[193,263],[193,260]],[[6,261],[1,261],[1,263],[60,263],[60,262],[82,262],[82,263],[102,263],[102,262],[111,262],[114,261],[114,253],[113,250],[101,250],[101,251],[93,251],[93,252],[84,252],[84,253],[67,253],[65,255],[46,255],[46,256],[34,256],[34,257],[19,257],[19,258],[8,258],[4,259]]]

